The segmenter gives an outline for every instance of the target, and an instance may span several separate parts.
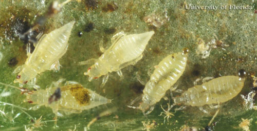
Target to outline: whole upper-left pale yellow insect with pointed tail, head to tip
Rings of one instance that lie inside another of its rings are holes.
[[[14,73],[20,73],[14,83],[24,84],[46,70],[59,70],[58,60],[67,51],[70,32],[74,24],[75,21],[71,21],[63,27],[43,35],[33,53],[28,53],[26,63],[15,69]]]

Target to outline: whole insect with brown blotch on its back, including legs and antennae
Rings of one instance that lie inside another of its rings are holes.
[[[63,116],[61,113],[66,115],[81,113],[83,110],[88,110],[90,108],[112,102],[112,100],[84,88],[81,84],[75,81],[67,81],[64,86],[56,87],[59,85],[58,83],[62,81],[63,79],[59,80],[57,84],[52,84],[46,90],[41,89],[38,91],[28,91],[23,88],[17,88],[16,86],[7,85],[1,82],[0,84],[22,91],[22,93],[26,95],[26,100],[24,101],[35,104],[35,106],[32,107],[32,110],[38,110],[38,108],[43,105],[52,108],[53,113],[56,115],[55,120],[57,120],[57,116]],[[57,90],[59,88],[60,91]],[[49,100],[54,94],[58,94],[58,99],[53,100],[50,103]]]

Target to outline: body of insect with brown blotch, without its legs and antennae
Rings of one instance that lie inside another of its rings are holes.
[[[56,91],[57,88],[34,91],[32,94],[27,94],[27,100],[38,106],[50,106],[58,110],[87,110],[98,105],[106,104],[111,100],[100,96],[99,94],[84,88],[81,84],[70,84],[61,86],[61,98],[51,104],[48,103],[49,97]],[[34,108],[36,110],[38,108]]]

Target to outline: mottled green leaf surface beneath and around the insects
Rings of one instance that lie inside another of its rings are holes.
[[[3,59],[0,61],[0,81],[19,86],[12,81],[15,74],[12,74],[17,65],[24,64],[26,56],[26,43],[17,36],[17,31],[25,30],[35,24],[36,19],[43,16],[52,1],[0,1],[0,52]],[[253,10],[186,10],[185,5],[250,5]],[[46,71],[37,76],[37,84],[45,89],[52,81],[60,78],[78,81],[86,88],[96,91],[106,98],[113,99],[111,104],[102,105],[91,110],[83,111],[81,114],[71,114],[59,117],[59,128],[55,130],[74,129],[83,130],[88,122],[99,113],[117,106],[117,112],[102,117],[91,125],[91,130],[133,130],[141,129],[141,121],[156,121],[157,125],[153,130],[179,130],[182,125],[195,126],[203,129],[212,118],[215,110],[210,110],[211,115],[204,114],[197,107],[187,107],[186,110],[177,111],[175,116],[169,119],[169,123],[163,124],[163,116],[160,105],[167,109],[168,100],[161,100],[155,106],[155,110],[146,117],[141,111],[126,107],[134,98],[140,95],[143,85],[136,79],[136,72],[143,81],[149,79],[148,70],[168,54],[181,51],[184,47],[190,49],[186,71],[176,83],[178,89],[187,90],[193,86],[193,81],[200,77],[219,77],[226,75],[237,75],[239,69],[247,71],[247,80],[240,94],[247,95],[253,85],[250,75],[255,75],[257,69],[256,44],[257,44],[257,2],[255,0],[218,0],[218,1],[101,1],[81,0],[72,1],[64,6],[56,16],[47,19],[46,24],[38,32],[49,33],[71,20],[76,20],[69,39],[67,53],[60,59],[62,68],[59,72]],[[169,20],[160,28],[145,23],[143,18],[154,11],[163,16],[167,10]],[[90,23],[94,25],[90,30]],[[25,28],[25,29],[23,29]],[[111,38],[114,34],[124,31],[127,34],[142,33],[154,30],[155,34],[149,41],[143,52],[143,58],[135,65],[128,66],[121,71],[124,79],[116,73],[111,73],[109,80],[103,89],[100,88],[102,78],[89,82],[87,76],[83,75],[89,65],[79,66],[78,62],[90,58],[98,58],[101,55],[99,43],[103,46],[111,46]],[[79,32],[83,34],[79,36]],[[214,34],[229,45],[226,50],[221,47],[212,49],[210,56],[201,59],[196,54],[197,38],[205,42],[211,41]],[[17,64],[11,65],[8,62],[12,58],[17,59]],[[0,101],[29,108],[33,105],[24,103],[25,98],[19,91],[12,88],[0,86],[1,92],[11,92],[10,96],[1,97]],[[179,94],[174,94],[179,95]],[[169,92],[167,96],[170,98]],[[254,97],[255,98],[255,97]],[[170,98],[171,99],[171,98]],[[256,111],[247,110],[243,105],[240,95],[222,104],[221,112],[215,118],[215,130],[242,130],[238,124],[244,119],[253,119],[249,126],[251,130],[257,128]],[[0,116],[0,130],[20,130],[24,125],[31,124],[31,118],[22,113],[16,107],[0,104],[0,110],[8,117],[20,116],[10,121],[3,115]],[[174,108],[172,109],[174,111]],[[41,107],[37,111],[26,111],[33,118],[40,118],[43,121],[52,120],[54,114],[48,107]],[[118,118],[114,118],[115,116]],[[36,130],[53,130],[53,122],[46,123],[42,128]]]

